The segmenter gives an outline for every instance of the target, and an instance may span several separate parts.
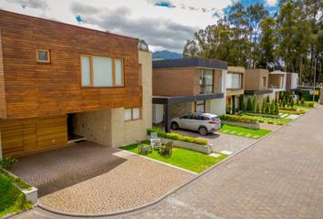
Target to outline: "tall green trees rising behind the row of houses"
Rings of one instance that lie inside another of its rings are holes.
[[[318,81],[323,82],[323,2],[280,0],[276,13],[263,5],[232,5],[215,25],[194,33],[183,57],[207,57],[231,66],[281,69],[299,73],[300,83],[312,83],[318,59]]]

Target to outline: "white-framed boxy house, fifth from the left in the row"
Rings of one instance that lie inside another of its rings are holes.
[[[269,89],[273,90],[273,99],[279,98],[282,91],[286,91],[287,73],[275,70],[269,73]]]

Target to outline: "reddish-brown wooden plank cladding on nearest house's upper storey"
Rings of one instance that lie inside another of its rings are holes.
[[[1,10],[0,29],[8,119],[142,106],[137,39]],[[36,62],[37,48],[50,64]],[[124,58],[125,86],[82,88],[82,54]]]

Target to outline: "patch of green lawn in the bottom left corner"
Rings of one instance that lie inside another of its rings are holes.
[[[21,193],[10,178],[0,173],[0,218],[5,214],[24,211],[31,207],[26,202],[24,193]]]

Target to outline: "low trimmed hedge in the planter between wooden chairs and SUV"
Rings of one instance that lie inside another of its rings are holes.
[[[160,129],[152,128],[147,130],[147,134],[150,135],[151,132],[156,132],[159,137],[165,138],[165,139],[171,139],[175,141],[185,141],[185,142],[190,142],[190,143],[195,143],[195,144],[200,144],[200,145],[207,145],[206,140],[201,140],[201,139],[195,139],[190,136],[182,136],[177,133],[167,133],[165,131],[162,131]]]

